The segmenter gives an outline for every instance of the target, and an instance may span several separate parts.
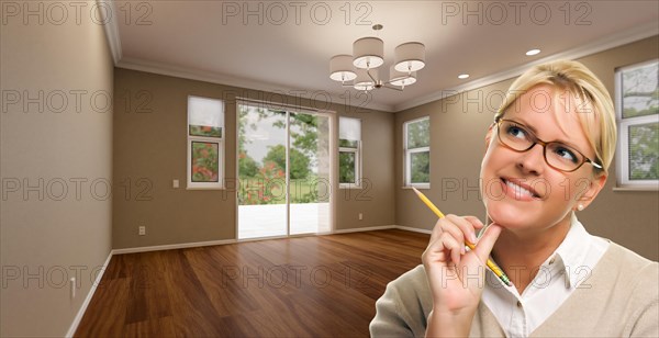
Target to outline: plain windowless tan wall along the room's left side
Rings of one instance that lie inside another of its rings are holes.
[[[112,60],[90,8],[2,15],[2,337],[64,336],[111,250]]]

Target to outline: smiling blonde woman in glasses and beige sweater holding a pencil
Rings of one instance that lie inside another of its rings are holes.
[[[657,262],[590,235],[577,218],[604,187],[615,151],[602,82],[577,61],[529,69],[485,143],[491,224],[439,219],[423,266],[378,300],[371,336],[658,337]],[[490,256],[512,285],[485,267]]]

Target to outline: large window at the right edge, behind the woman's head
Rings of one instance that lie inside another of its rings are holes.
[[[616,70],[618,185],[659,189],[659,60]]]

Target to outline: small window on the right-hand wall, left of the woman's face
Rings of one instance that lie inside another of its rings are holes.
[[[431,119],[403,124],[405,187],[431,188]]]

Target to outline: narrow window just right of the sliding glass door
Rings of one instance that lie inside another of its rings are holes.
[[[338,117],[338,187],[361,183],[361,120]]]

